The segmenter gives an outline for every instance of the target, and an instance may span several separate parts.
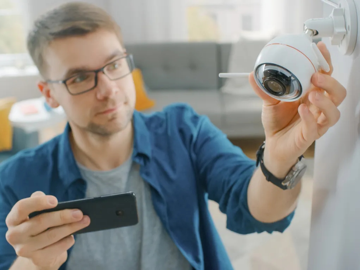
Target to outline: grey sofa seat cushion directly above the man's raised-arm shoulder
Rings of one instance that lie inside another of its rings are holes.
[[[187,103],[198,114],[207,115],[218,128],[222,128],[222,100],[219,90],[153,90],[149,97],[156,105],[147,112],[161,111],[163,107],[176,102]]]

